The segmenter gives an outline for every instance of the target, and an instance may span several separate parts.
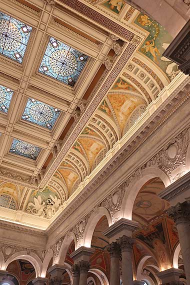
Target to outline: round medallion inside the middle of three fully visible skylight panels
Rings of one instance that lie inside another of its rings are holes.
[[[29,109],[29,114],[35,121],[38,122],[50,121],[53,117],[50,107],[42,103],[33,104]]]

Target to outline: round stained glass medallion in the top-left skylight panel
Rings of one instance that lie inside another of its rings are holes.
[[[0,47],[5,50],[16,50],[20,47],[21,34],[18,27],[8,20],[0,20]]]

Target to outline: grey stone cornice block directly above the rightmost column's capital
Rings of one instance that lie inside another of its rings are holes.
[[[190,172],[167,186],[163,191],[159,193],[160,198],[164,200],[170,200],[173,197],[179,195],[181,192],[187,190],[190,187]]]

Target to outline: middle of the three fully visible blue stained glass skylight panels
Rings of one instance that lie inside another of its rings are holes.
[[[28,98],[22,119],[51,129],[60,114],[60,110],[33,98]]]

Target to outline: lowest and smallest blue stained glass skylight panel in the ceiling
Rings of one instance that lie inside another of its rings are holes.
[[[10,152],[18,155],[25,156],[27,158],[31,158],[33,160],[36,160],[39,152],[41,151],[40,147],[37,147],[31,143],[28,143],[23,140],[19,140],[17,138],[14,138],[12,140],[12,144],[10,146]]]

